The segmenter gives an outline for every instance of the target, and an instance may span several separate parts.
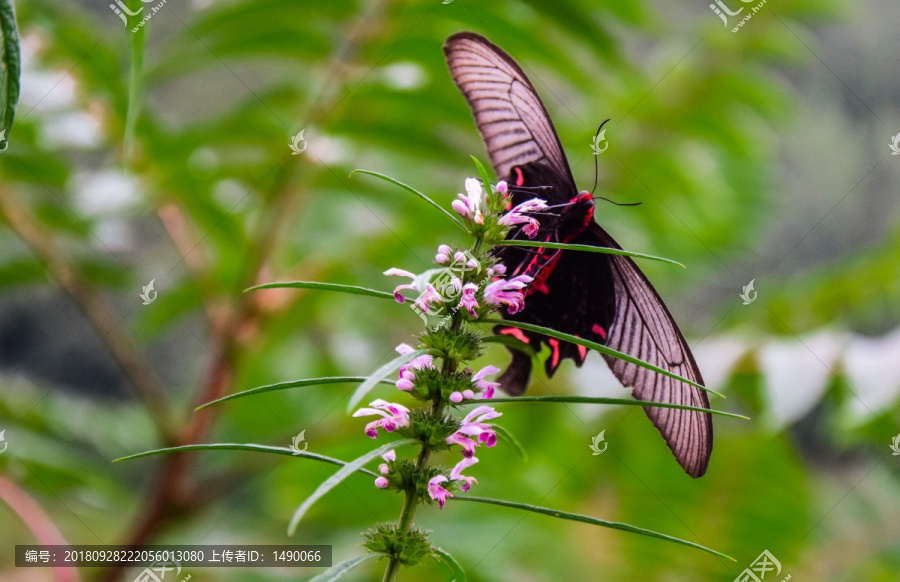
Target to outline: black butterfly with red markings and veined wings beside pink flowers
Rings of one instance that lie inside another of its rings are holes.
[[[451,36],[444,54],[487,146],[497,176],[513,193],[513,204],[540,197],[552,215],[541,215],[537,240],[621,248],[594,222],[594,203],[579,193],[547,109],[521,67],[502,49],[471,32]],[[545,220],[549,218],[550,220]],[[520,236],[514,230],[510,237]],[[511,271],[534,281],[525,309],[509,319],[549,327],[632,355],[703,384],[691,350],[656,290],[629,257],[618,255],[498,247]],[[545,364],[552,376],[571,358],[581,366],[583,346],[518,328],[498,326],[540,349],[550,347]],[[512,362],[500,377],[510,394],[528,387],[531,359],[510,350]],[[634,364],[604,356],[624,386],[639,400],[709,408],[706,392]],[[712,415],[692,410],[645,407],[681,467],[692,477],[706,472],[712,453]]]

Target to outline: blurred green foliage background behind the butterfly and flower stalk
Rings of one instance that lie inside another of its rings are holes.
[[[389,289],[459,242],[449,205],[484,148],[443,62],[474,30],[531,75],[577,181],[599,156],[597,218],[643,263],[694,346],[718,408],[708,474],[684,475],[633,407],[505,405],[476,492],[624,521],[714,547],[474,504],[418,520],[470,580],[731,581],[763,550],[778,577],[900,572],[900,7],[889,0],[170,0],[132,33],[101,0],[18,2],[22,96],[0,155],[0,578],[131,580],[15,569],[14,544],[325,543],[335,562],[395,519],[360,476],[293,509],[333,470],[243,452],[111,464],[167,442],[372,447],[352,385],[202,413],[211,397],[366,374],[419,331],[408,309],[257,282]],[[147,7],[155,4],[148,4]],[[134,4],[134,8],[139,5]],[[149,8],[148,8],[149,10]],[[132,18],[134,25],[138,17]],[[305,130],[307,150],[291,155]],[[141,289],[155,282],[157,299]],[[757,299],[739,294],[755,281]],[[503,365],[502,348],[484,363]],[[383,388],[390,394],[391,388]],[[624,396],[596,354],[534,394]],[[606,431],[607,452],[591,456]],[[29,501],[30,500],[30,501]],[[54,533],[56,531],[57,533]],[[383,564],[355,573],[380,579]],[[194,580],[297,580],[208,569]],[[68,577],[67,577],[68,576]],[[77,578],[72,577],[77,576]],[[437,580],[433,566],[401,574]]]

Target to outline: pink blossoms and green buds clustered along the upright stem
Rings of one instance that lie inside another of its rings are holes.
[[[489,377],[500,371],[496,366],[486,366],[477,372],[462,369],[461,364],[480,354],[481,336],[468,331],[464,323],[479,320],[493,311],[505,308],[517,313],[524,308],[525,290],[532,278],[515,275],[507,278],[506,267],[494,255],[482,250],[482,243],[495,244],[504,239],[514,228],[521,228],[529,238],[534,238],[540,223],[536,214],[547,209],[544,200],[534,198],[513,206],[509,187],[505,182],[493,188],[475,178],[466,180],[466,194],[460,194],[453,202],[453,209],[463,218],[470,233],[481,242],[471,250],[440,245],[434,261],[438,268],[422,274],[403,269],[388,269],[385,275],[404,277],[409,282],[397,285],[394,298],[399,303],[410,301],[420,314],[442,316],[444,323],[432,328],[420,338],[421,347],[429,354],[417,355],[400,366],[395,381],[398,390],[420,402],[420,408],[409,408],[385,400],[374,400],[353,416],[377,416],[365,427],[365,433],[376,438],[380,429],[397,431],[404,437],[422,442],[423,452],[418,461],[398,461],[393,451],[383,455],[378,466],[379,476],[375,486],[379,489],[403,490],[419,499],[430,499],[441,508],[456,490],[467,492],[478,481],[465,474],[479,462],[475,453],[480,447],[497,444],[497,432],[490,421],[500,413],[483,403],[475,406],[463,418],[447,414],[447,407],[465,405],[466,401],[488,401],[500,388],[500,383]],[[396,348],[401,356],[416,352],[416,348],[400,344]],[[433,354],[433,355],[432,355]],[[443,363],[437,366],[436,359]],[[455,450],[459,447],[462,458],[446,470],[429,464],[434,451]]]

